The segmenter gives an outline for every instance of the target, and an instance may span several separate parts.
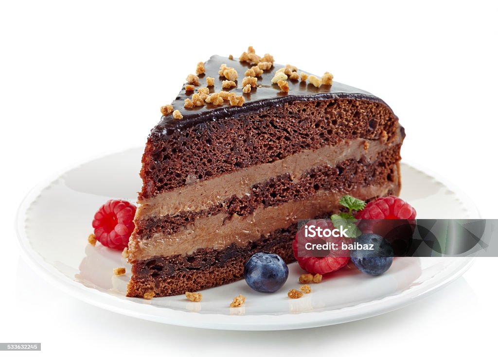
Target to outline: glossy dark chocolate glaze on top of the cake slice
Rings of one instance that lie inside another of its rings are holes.
[[[222,88],[222,82],[226,80],[226,78],[219,77],[218,71],[223,63],[225,63],[228,67],[233,67],[237,70],[237,88]],[[237,58],[230,60],[228,57],[215,55],[212,56],[204,66],[206,68],[206,72],[199,75],[199,86],[195,86],[195,91],[185,93],[184,85],[176,99],[171,103],[174,110],[179,110],[182,113],[183,119],[175,120],[171,114],[161,117],[160,122],[154,129],[152,129],[150,134],[151,137],[156,139],[160,139],[161,137],[165,138],[172,135],[177,130],[181,131],[203,122],[214,121],[226,117],[238,117],[241,114],[256,112],[263,107],[282,105],[283,103],[295,100],[306,101],[350,98],[358,100],[372,100],[385,104],[382,99],[365,90],[357,89],[338,82],[334,82],[332,86],[322,85],[319,88],[316,88],[308,81],[301,82],[288,79],[287,82],[289,83],[289,91],[287,93],[282,92],[276,84],[271,83],[271,79],[275,75],[275,72],[280,68],[285,67],[284,65],[279,65],[277,63],[274,63],[270,70],[264,71],[264,73],[258,77],[258,87],[252,88],[250,93],[244,93],[242,91],[242,80],[246,77],[244,73],[254,65],[249,65],[247,62],[239,62],[239,59]],[[301,70],[298,70],[298,73],[300,72]],[[308,72],[303,72],[309,75]],[[210,93],[219,92],[221,90],[235,92],[237,95],[244,96],[246,101],[243,106],[231,106],[227,101],[225,101],[225,104],[222,106],[205,103],[204,106],[198,106],[192,109],[184,108],[184,99],[191,98],[192,94],[197,92],[197,89],[207,87],[207,77],[213,77],[215,79],[214,87],[208,87],[210,89]],[[387,104],[385,105],[387,106]]]

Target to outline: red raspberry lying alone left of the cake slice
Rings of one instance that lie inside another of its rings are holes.
[[[95,213],[92,222],[95,238],[106,247],[123,250],[128,246],[129,236],[135,229],[135,210],[135,205],[127,201],[107,201]]]

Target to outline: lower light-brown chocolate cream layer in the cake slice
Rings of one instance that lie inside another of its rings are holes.
[[[397,167],[396,167],[397,175]],[[381,186],[368,186],[353,189],[348,194],[361,199],[383,196],[392,190],[399,192],[399,181]],[[232,243],[244,246],[250,241],[267,236],[277,229],[285,229],[299,219],[313,218],[339,210],[339,198],[346,192],[317,191],[306,200],[289,201],[278,206],[256,208],[246,217],[228,214],[199,217],[187,229],[172,235],[156,233],[147,240],[132,240],[129,243],[129,260],[146,260],[154,257],[190,255],[198,249],[223,249]]]

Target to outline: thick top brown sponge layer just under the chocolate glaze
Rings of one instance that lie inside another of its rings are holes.
[[[284,103],[151,135],[139,199],[344,139],[394,140],[398,125],[382,102],[334,98]]]

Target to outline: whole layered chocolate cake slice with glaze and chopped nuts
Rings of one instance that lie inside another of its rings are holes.
[[[197,74],[148,137],[128,296],[238,280],[256,252],[292,262],[298,219],[399,193],[404,131],[381,99],[251,48]]]

